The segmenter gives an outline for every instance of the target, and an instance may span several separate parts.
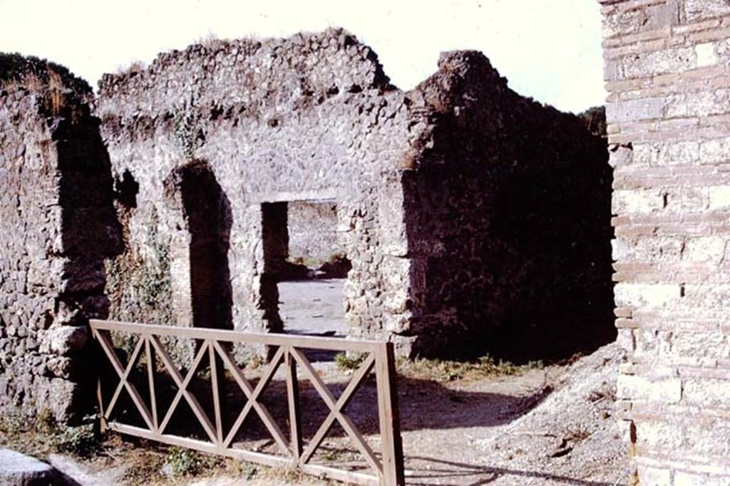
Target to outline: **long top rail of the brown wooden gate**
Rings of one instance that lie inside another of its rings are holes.
[[[377,348],[379,342],[366,340],[349,340],[339,337],[294,336],[291,334],[264,334],[224,329],[199,327],[158,326],[154,324],[137,324],[118,321],[89,321],[93,329],[109,331],[133,332],[135,334],[153,334],[155,336],[188,337],[198,340],[216,340],[225,342],[246,342],[270,346],[293,346],[304,349],[321,349],[331,351],[358,351],[369,353]]]

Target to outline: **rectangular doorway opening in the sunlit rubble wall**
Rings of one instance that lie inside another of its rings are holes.
[[[345,280],[352,265],[337,233],[337,204],[262,205],[264,317],[273,332],[345,337]]]

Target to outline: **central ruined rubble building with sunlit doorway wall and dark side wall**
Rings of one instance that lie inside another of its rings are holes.
[[[353,266],[350,336],[464,356],[615,335],[604,141],[510,91],[480,52],[443,55],[403,92],[340,29],[213,41],[106,75],[96,114],[129,192],[113,318],[280,331],[277,275],[298,244],[287,206],[328,201]],[[196,192],[212,199],[186,207]],[[201,290],[210,279],[226,288]],[[200,310],[220,294],[229,312]]]

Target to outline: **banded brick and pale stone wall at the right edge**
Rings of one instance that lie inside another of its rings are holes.
[[[604,0],[632,482],[730,480],[730,3]]]

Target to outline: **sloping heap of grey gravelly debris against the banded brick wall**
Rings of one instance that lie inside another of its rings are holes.
[[[628,450],[614,416],[615,377],[624,358],[612,343],[577,360],[556,391],[482,443],[490,466],[608,484],[628,478]]]

